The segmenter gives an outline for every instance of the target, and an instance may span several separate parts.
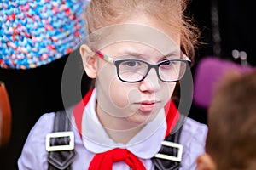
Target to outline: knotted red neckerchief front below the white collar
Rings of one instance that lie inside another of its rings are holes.
[[[146,170],[143,162],[134,156],[129,150],[115,148],[96,154],[90,161],[89,170],[111,170],[113,162],[125,161],[132,170]]]

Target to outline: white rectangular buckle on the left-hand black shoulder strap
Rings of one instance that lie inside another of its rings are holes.
[[[61,138],[61,137],[69,137],[69,144],[67,145],[50,145],[51,138]],[[67,132],[57,132],[57,133],[48,133],[46,135],[46,150],[47,151],[60,151],[60,150],[73,150],[74,149],[74,134],[71,131]]]

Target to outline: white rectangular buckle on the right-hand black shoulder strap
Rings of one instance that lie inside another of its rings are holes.
[[[165,154],[156,154],[154,157],[160,158],[160,159],[166,159],[169,161],[181,161],[182,160],[182,155],[183,155],[183,145],[182,144],[177,144],[173,142],[168,142],[168,141],[162,141],[162,145],[164,146],[169,146],[172,148],[177,148],[177,157],[176,156],[168,156]]]

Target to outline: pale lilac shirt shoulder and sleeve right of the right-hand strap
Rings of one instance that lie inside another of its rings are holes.
[[[183,145],[183,170],[195,169],[196,159],[205,153],[207,125],[187,117],[183,124],[180,143]]]

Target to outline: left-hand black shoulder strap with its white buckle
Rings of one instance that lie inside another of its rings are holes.
[[[46,136],[48,155],[48,170],[71,170],[75,156],[74,134],[66,111],[55,113],[53,133]]]

